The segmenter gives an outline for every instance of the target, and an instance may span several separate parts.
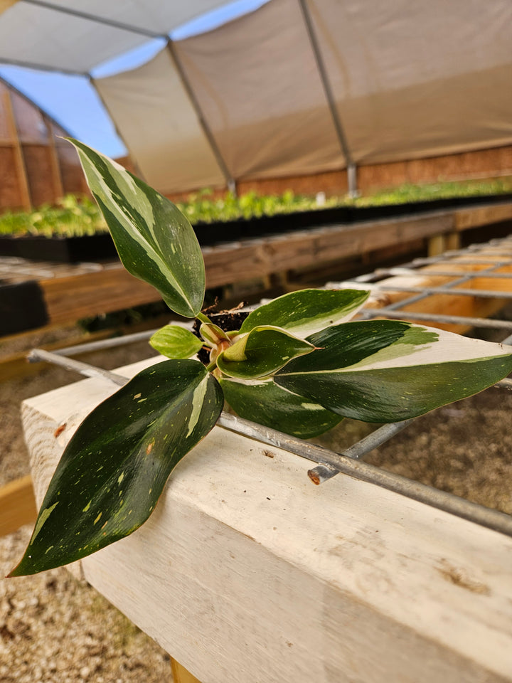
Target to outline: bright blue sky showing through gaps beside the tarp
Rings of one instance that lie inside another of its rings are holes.
[[[262,6],[268,0],[235,0],[193,19],[171,34],[175,41],[210,31],[226,21],[247,14]],[[119,55],[108,63],[93,70],[95,78],[102,78],[120,71],[144,64],[164,46],[160,39],[149,40],[144,46],[130,53]],[[16,66],[2,66],[0,76],[14,85],[24,95],[48,112],[70,134],[95,147],[110,157],[121,157],[127,153],[124,144],[115,132],[114,125],[105,111],[96,91],[87,78],[59,73],[44,73]]]

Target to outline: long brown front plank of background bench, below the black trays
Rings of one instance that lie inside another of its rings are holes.
[[[512,204],[508,208],[512,213]],[[478,212],[481,208],[468,211]],[[482,213],[482,220],[484,215],[494,220],[494,213]],[[454,213],[444,212],[216,245],[203,248],[206,284],[213,288],[256,278],[264,280],[272,273],[335,263],[453,232]],[[159,300],[153,287],[129,275],[120,263],[98,265],[94,272],[73,275],[76,268],[68,266],[69,275],[36,277],[44,293],[50,324],[75,322],[81,317]]]

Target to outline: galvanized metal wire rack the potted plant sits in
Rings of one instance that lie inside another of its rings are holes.
[[[475,267],[476,270],[464,272],[462,275],[460,270],[451,266],[454,263],[454,257],[457,258],[457,265],[469,265]],[[453,279],[438,287],[404,287],[402,285],[393,285],[393,283],[390,284],[390,277],[395,275],[417,275],[418,272],[421,272],[420,269],[425,268],[425,266],[429,267],[429,275],[442,275],[443,277],[452,277]],[[510,268],[510,272],[506,272],[507,268]],[[499,272],[500,270],[503,272]],[[510,286],[497,290],[469,288],[471,281],[481,277],[500,278],[504,281],[510,280]],[[464,285],[464,287],[460,287],[460,285]],[[410,305],[425,300],[427,297],[448,293],[461,297],[492,297],[499,300],[512,300],[512,235],[501,240],[491,240],[485,244],[471,245],[466,249],[445,252],[434,258],[415,259],[410,263],[400,266],[400,268],[379,268],[368,275],[361,275],[350,281],[328,283],[325,287],[361,287],[370,289],[374,294],[380,291],[389,292],[394,290],[406,292],[410,295],[405,296],[400,301],[391,302],[379,308],[365,308],[360,314],[361,319],[372,319],[375,317],[413,319],[415,321],[422,320],[425,322],[464,324],[471,327],[489,328],[498,330],[505,335],[501,342],[502,344],[512,344],[512,320],[499,319],[497,317],[488,319],[440,313],[422,313],[409,309]],[[407,307],[407,310],[405,310],[405,307]],[[28,359],[30,361],[46,361],[63,366],[83,376],[102,376],[112,381],[112,383],[122,386],[128,381],[127,377],[82,361],[77,361],[70,358],[70,356],[149,339],[154,332],[155,330],[149,330],[137,334],[128,334],[120,338],[79,344],[53,352],[34,349],[29,354]],[[495,386],[510,390],[512,389],[512,379],[503,379]],[[277,430],[252,423],[230,413],[222,413],[218,420],[218,425],[249,438],[259,440],[262,443],[274,445],[277,448],[284,448],[289,452],[301,455],[315,462],[315,467],[308,471],[311,481],[315,484],[321,484],[331,479],[331,477],[338,475],[338,473],[344,473],[359,480],[390,489],[393,492],[415,499],[431,507],[468,519],[475,524],[480,524],[507,536],[512,536],[512,516],[486,508],[480,504],[469,502],[453,494],[440,491],[434,487],[415,482],[407,479],[407,477],[396,475],[364,462],[363,457],[365,455],[393,438],[401,430],[407,428],[415,419],[417,418],[377,428],[366,438],[343,450],[343,452],[334,452],[319,445],[293,438]]]

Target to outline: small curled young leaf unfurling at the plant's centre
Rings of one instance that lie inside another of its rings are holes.
[[[236,338],[235,338],[236,339]],[[284,329],[255,327],[223,351],[217,359],[220,370],[230,377],[256,379],[272,374],[287,362],[309,354],[314,345]]]

